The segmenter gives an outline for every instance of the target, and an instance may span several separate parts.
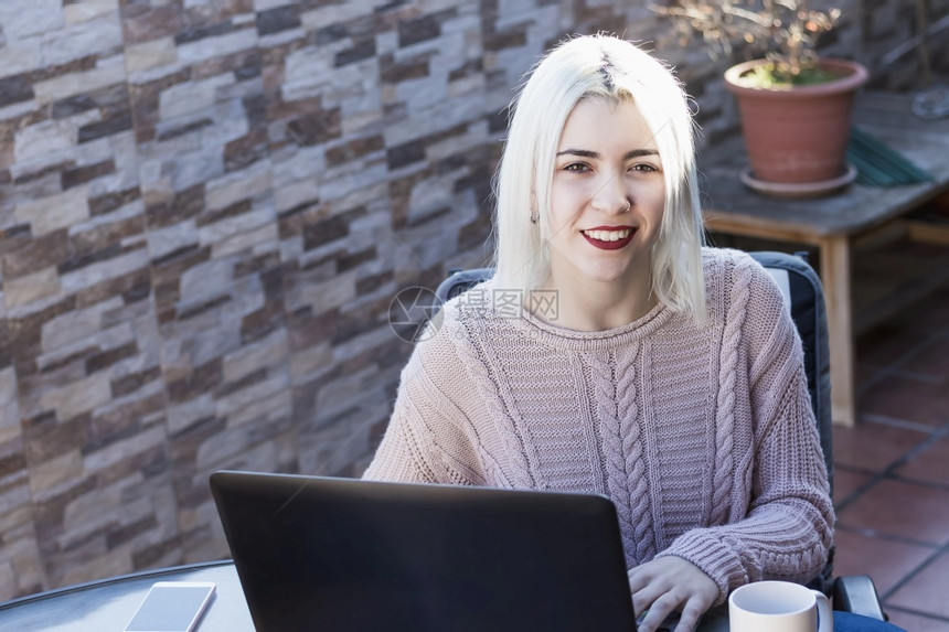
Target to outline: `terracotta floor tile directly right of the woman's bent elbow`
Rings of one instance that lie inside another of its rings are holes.
[[[949,491],[881,481],[839,512],[838,523],[941,546],[949,543]]]

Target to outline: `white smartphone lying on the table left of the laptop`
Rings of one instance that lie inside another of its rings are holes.
[[[125,632],[193,632],[214,589],[213,581],[157,581]]]

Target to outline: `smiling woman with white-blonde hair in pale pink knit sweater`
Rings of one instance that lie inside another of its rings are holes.
[[[817,576],[834,516],[800,343],[764,269],[702,247],[681,86],[584,36],[513,111],[495,276],[416,346],[365,478],[607,494],[647,632]]]

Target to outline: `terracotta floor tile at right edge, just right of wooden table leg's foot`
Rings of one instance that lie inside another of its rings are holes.
[[[949,422],[949,388],[903,375],[888,375],[857,397],[859,416],[882,415],[940,427]],[[859,419],[857,424],[866,419]]]

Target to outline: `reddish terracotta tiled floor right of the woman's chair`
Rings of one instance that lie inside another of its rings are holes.
[[[855,347],[857,426],[834,428],[839,505],[873,473],[923,444],[931,436],[926,426],[936,431],[949,424],[949,286],[861,335]],[[879,422],[881,417],[921,428],[899,428]],[[931,486],[949,486],[949,437],[915,454],[895,473],[905,480],[879,480],[839,510],[834,572],[871,575],[887,598],[884,609],[894,624],[913,632],[949,632],[949,553],[920,570],[934,547],[949,542],[949,489]],[[907,577],[909,581],[893,596],[886,593]]]

